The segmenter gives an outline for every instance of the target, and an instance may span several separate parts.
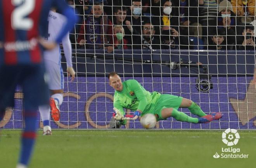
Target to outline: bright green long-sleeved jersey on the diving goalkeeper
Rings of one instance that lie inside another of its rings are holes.
[[[123,82],[123,90],[115,91],[114,107],[116,107],[123,115],[123,108],[132,111],[141,110],[142,115],[150,113],[156,106],[160,93],[150,93],[138,83],[137,80],[127,80]]]

